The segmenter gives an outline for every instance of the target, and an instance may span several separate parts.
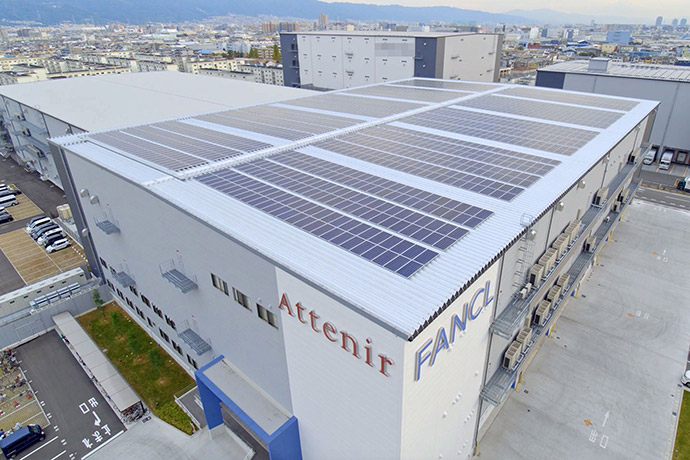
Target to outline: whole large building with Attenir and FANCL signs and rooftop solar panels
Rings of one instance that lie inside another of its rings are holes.
[[[470,458],[657,103],[411,79],[52,141],[88,257],[258,458]]]

